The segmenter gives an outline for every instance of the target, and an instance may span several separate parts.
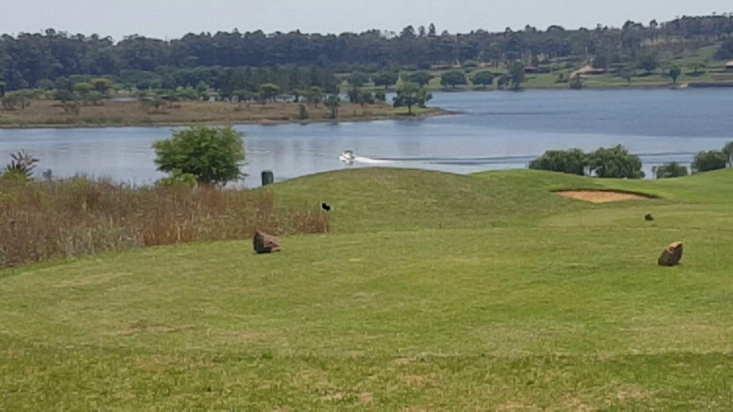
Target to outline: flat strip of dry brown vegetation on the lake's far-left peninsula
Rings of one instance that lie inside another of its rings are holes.
[[[391,119],[404,115],[404,108],[391,105],[357,105],[342,102],[339,120],[361,121]],[[331,109],[320,104],[306,105],[308,119],[299,119],[299,104],[277,102],[232,104],[227,102],[181,102],[172,108],[154,110],[139,102],[107,101],[103,105],[86,105],[80,113],[65,113],[57,102],[33,101],[24,109],[0,111],[0,127],[80,127],[185,124],[284,123],[294,121],[331,121]],[[427,113],[440,113],[430,109]]]

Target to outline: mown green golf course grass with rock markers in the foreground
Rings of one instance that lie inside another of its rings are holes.
[[[550,192],[583,188],[660,198]],[[733,408],[733,171],[268,190],[330,203],[332,233],[0,271],[0,409]],[[676,240],[683,264],[656,266]]]

